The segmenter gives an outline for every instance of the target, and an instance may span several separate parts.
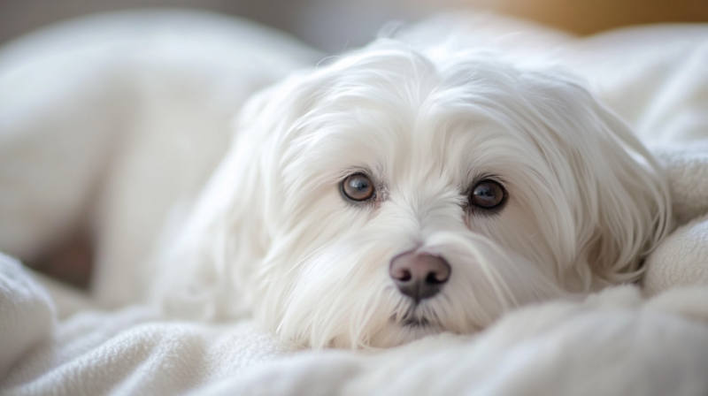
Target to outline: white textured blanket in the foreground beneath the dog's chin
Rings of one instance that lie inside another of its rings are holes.
[[[355,353],[294,351],[250,321],[172,322],[139,307],[82,312],[52,332],[42,287],[7,258],[0,278],[8,395],[708,392],[708,287],[649,301],[617,287],[521,309],[479,335]]]

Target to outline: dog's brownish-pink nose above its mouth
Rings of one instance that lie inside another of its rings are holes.
[[[401,293],[419,302],[440,292],[450,278],[450,264],[436,255],[406,252],[391,260],[389,275]]]

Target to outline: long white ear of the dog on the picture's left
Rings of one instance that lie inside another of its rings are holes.
[[[227,155],[155,259],[151,296],[169,315],[219,320],[249,312],[252,275],[281,224],[281,158],[323,79],[294,75],[244,105]]]

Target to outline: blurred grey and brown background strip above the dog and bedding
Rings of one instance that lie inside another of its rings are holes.
[[[576,34],[659,22],[706,22],[708,0],[0,0],[0,45],[21,34],[96,12],[193,8],[258,21],[339,53],[371,40],[390,20],[435,11],[496,11]]]

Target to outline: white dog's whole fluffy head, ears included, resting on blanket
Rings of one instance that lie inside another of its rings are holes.
[[[572,78],[481,52],[374,44],[260,95],[239,133],[196,215],[217,270],[196,273],[302,345],[473,332],[635,280],[666,230],[626,126]]]

